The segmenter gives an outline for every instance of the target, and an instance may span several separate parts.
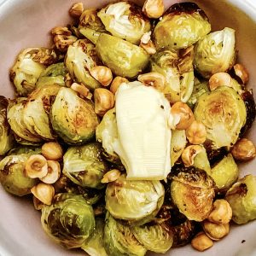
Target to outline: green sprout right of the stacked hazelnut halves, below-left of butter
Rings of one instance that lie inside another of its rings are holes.
[[[100,143],[68,148],[63,157],[63,173],[82,187],[102,189],[101,180],[108,167],[102,160],[101,151]]]

